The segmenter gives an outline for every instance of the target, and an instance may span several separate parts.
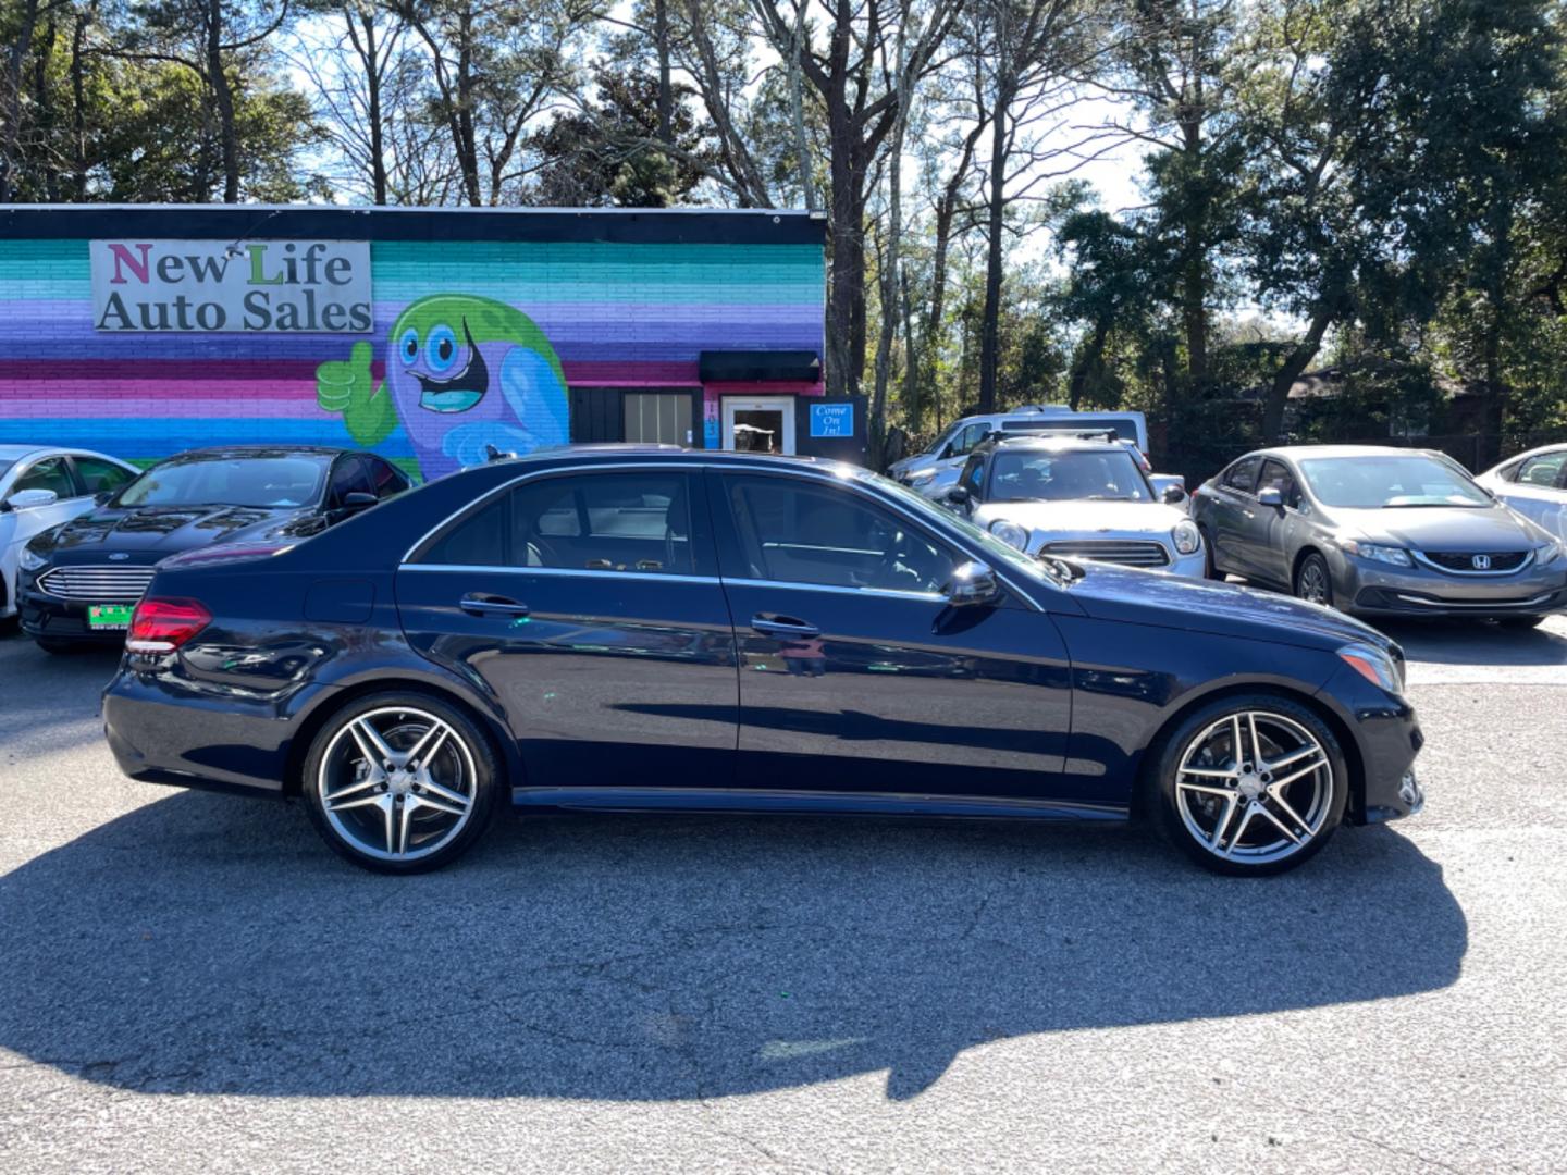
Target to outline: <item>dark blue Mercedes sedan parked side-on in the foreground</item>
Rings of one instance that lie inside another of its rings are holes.
[[[1031,559],[884,478],[570,448],[179,555],[103,699],[133,777],[301,797],[371,870],[495,807],[1153,821],[1265,874],[1417,812],[1402,655],[1279,595]]]

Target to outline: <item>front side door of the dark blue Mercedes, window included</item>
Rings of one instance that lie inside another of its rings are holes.
[[[1069,666],[1047,613],[948,605],[968,556],[852,483],[715,472],[708,487],[749,785],[1092,799],[1064,791]]]

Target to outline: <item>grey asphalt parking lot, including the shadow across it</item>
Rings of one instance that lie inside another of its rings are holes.
[[[1135,832],[503,819],[440,874],[125,780],[0,638],[0,1170],[1567,1169],[1567,619],[1399,628],[1428,807]]]

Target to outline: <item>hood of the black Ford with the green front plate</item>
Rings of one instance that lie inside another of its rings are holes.
[[[100,506],[28,545],[55,562],[96,562],[110,555],[155,562],[168,555],[237,539],[306,537],[323,525],[309,508]]]

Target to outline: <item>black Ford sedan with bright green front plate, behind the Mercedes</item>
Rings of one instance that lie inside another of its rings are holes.
[[[407,487],[407,476],[373,453],[276,445],[182,453],[27,545],[22,628],[49,652],[122,644],[160,559],[218,544],[298,542]]]

